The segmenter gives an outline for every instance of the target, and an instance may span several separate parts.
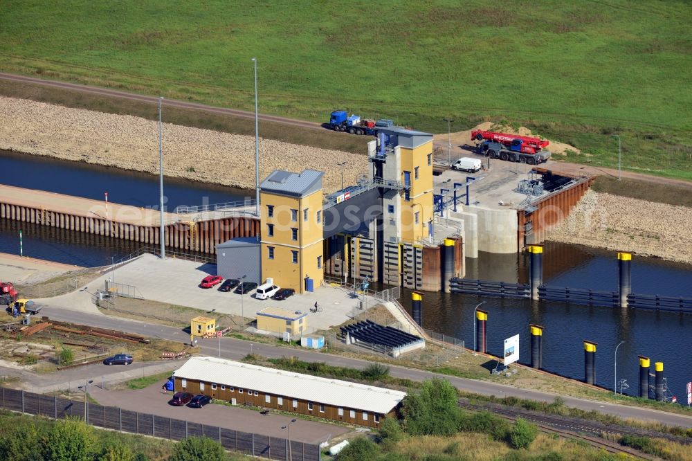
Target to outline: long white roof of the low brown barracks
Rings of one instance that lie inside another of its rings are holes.
[[[319,404],[389,413],[406,392],[266,368],[215,357],[192,357],[174,372],[176,378],[255,389]]]

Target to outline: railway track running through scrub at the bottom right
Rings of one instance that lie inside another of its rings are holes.
[[[601,438],[603,433],[612,435],[636,435],[643,437],[657,437],[671,442],[680,444],[692,445],[692,439],[688,437],[676,437],[672,434],[659,433],[656,431],[648,431],[646,429],[632,428],[626,426],[617,426],[614,424],[604,424],[597,421],[589,421],[576,417],[547,415],[536,411],[526,410],[525,408],[508,407],[499,404],[471,404],[468,399],[459,399],[459,407],[466,410],[483,411],[487,410],[495,415],[504,417],[511,421],[515,421],[518,417],[527,419],[527,421],[536,424],[541,431],[545,433],[557,434],[560,437],[570,438],[573,440],[583,440],[584,442],[597,446],[610,453],[628,453],[638,458],[655,460],[654,456],[641,453],[641,451],[632,449],[628,446],[622,446],[617,442],[605,440]]]

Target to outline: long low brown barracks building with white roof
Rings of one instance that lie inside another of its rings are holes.
[[[235,362],[192,357],[174,372],[176,392],[379,427],[406,392]]]

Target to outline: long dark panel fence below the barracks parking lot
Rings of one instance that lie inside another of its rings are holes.
[[[84,417],[81,401],[63,399],[52,395],[35,394],[24,390],[0,388],[1,407],[30,415],[42,415],[53,419],[68,416]],[[88,423],[92,426],[151,435],[169,440],[182,440],[193,435],[203,435],[217,440],[224,448],[237,450],[271,460],[286,460],[288,441],[262,434],[233,431],[207,424],[193,423],[157,415],[137,413],[116,407],[88,405]],[[319,461],[320,446],[291,440],[291,455],[295,461]]]

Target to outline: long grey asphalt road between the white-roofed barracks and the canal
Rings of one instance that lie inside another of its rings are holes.
[[[136,320],[118,318],[113,316],[104,316],[98,314],[86,314],[79,311],[70,311],[67,309],[59,309],[57,307],[48,307],[42,312],[44,316],[55,320],[65,322],[80,323],[84,325],[92,325],[96,327],[117,329],[129,333],[143,334],[146,336],[155,336],[158,338],[167,339],[170,341],[179,341],[182,343],[190,342],[190,335],[183,332],[181,329],[174,327],[165,327],[162,325],[152,325]],[[210,356],[221,356],[224,359],[239,360],[251,352],[261,354],[265,357],[280,358],[286,355],[297,356],[303,361],[322,361],[328,362],[330,365],[338,365],[350,368],[365,368],[370,362],[359,359],[351,359],[349,357],[325,354],[323,352],[313,352],[310,350],[287,349],[268,344],[253,344],[250,341],[244,341],[235,338],[207,339],[199,341],[203,354]],[[466,392],[473,392],[480,395],[495,395],[495,397],[519,397],[522,399],[532,399],[538,401],[554,401],[557,395],[549,392],[540,392],[536,390],[513,388],[504,384],[492,383],[489,381],[476,381],[473,379],[464,379],[458,377],[450,377],[444,374],[435,374],[423,370],[415,370],[412,368],[403,368],[399,366],[390,366],[390,374],[393,377],[410,379],[412,381],[423,381],[431,377],[441,377],[448,379],[454,386]],[[591,401],[579,399],[576,397],[561,396],[565,399],[567,406],[581,408],[582,410],[596,410],[601,413],[607,413],[621,417],[623,419],[640,419],[650,422],[660,422],[671,426],[692,427],[692,416],[678,415],[675,413],[666,413],[664,411],[653,410],[649,408],[640,408],[635,406],[624,406],[619,404],[609,404],[601,401]]]

